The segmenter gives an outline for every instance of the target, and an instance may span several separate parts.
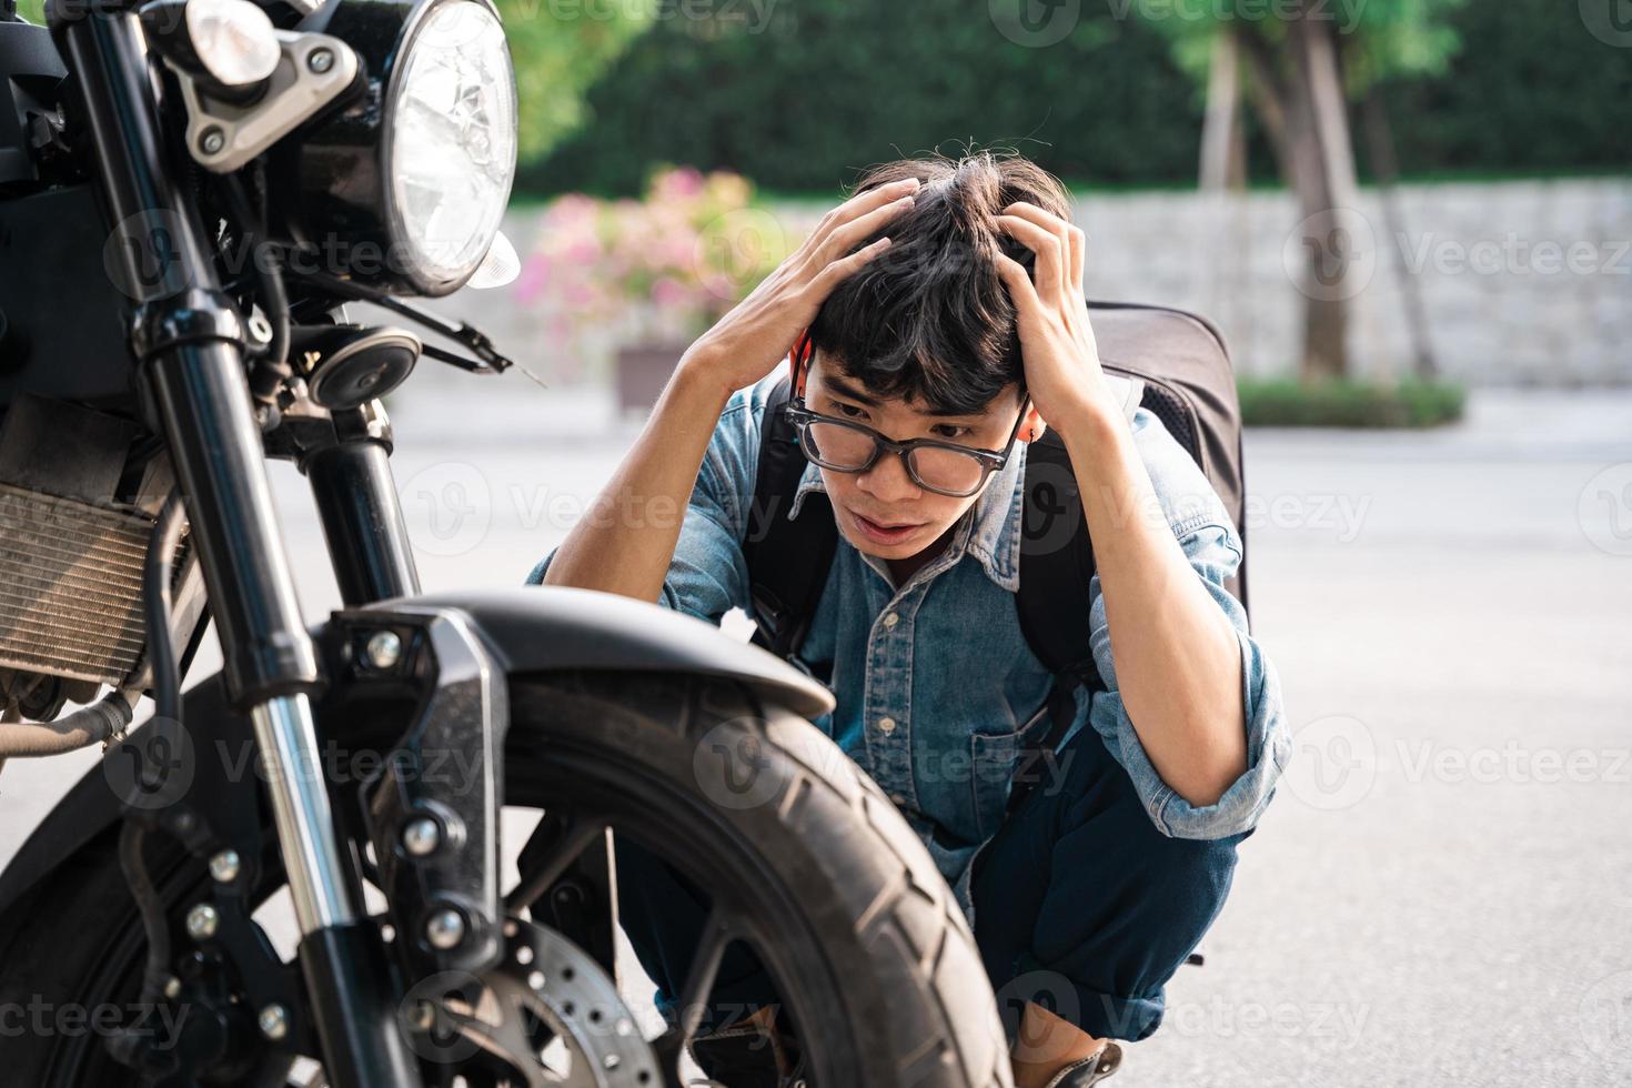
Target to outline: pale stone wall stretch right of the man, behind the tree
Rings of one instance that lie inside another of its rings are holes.
[[[1359,374],[1408,374],[1402,277],[1415,276],[1443,374],[1472,385],[1632,385],[1632,181],[1405,186],[1332,235],[1353,295]],[[1090,297],[1213,316],[1240,374],[1293,374],[1301,349],[1297,207],[1284,192],[1087,196]],[[1291,269],[1291,271],[1289,271]]]

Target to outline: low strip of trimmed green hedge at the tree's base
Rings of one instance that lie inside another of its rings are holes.
[[[1242,378],[1248,427],[1438,427],[1462,418],[1467,390],[1446,382],[1320,382]]]

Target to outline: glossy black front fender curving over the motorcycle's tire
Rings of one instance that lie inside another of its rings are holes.
[[[765,701],[803,718],[819,718],[834,708],[826,687],[774,654],[739,643],[702,620],[630,597],[519,586],[397,597],[372,607],[388,612],[408,605],[462,612],[506,675],[568,669],[687,672],[741,682]],[[323,626],[326,621],[313,628],[313,636],[322,638]],[[183,716],[194,726],[201,719],[214,721],[212,729],[248,736],[246,716],[227,705],[219,675],[186,693]],[[225,773],[212,763],[201,760],[199,772]],[[245,793],[246,799],[251,796]],[[93,767],[0,873],[0,913],[86,843],[108,834],[119,819],[118,791],[103,765]]]

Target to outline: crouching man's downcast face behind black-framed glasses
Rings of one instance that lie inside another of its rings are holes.
[[[973,416],[935,414],[920,401],[885,400],[816,352],[805,382],[805,406],[823,416],[854,419],[886,439],[940,439],[982,450],[1002,450],[1020,411],[1010,385]],[[1022,429],[1022,439],[1025,432]],[[885,452],[863,473],[823,468],[839,532],[857,551],[880,559],[907,559],[935,543],[981,498],[955,499],[925,491],[894,453]],[[996,473],[994,473],[996,475]]]

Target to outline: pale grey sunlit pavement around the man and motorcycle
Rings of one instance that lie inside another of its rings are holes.
[[[432,589],[519,581],[632,436],[596,393],[480,382],[395,408]],[[317,615],[322,538],[299,478],[276,483]],[[1255,432],[1248,489],[1297,762],[1208,966],[1116,1083],[1632,1083],[1632,395]],[[0,860],[88,762],[5,768]]]

